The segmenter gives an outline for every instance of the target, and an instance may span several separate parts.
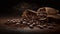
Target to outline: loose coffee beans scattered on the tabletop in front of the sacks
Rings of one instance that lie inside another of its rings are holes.
[[[44,29],[44,28],[48,28],[48,29],[53,29],[54,26],[56,26],[56,24],[52,24],[52,23],[41,23],[38,20],[27,20],[27,19],[11,19],[11,20],[7,20],[7,22],[5,23],[5,25],[13,25],[15,27],[29,27],[31,29],[33,29],[34,27],[40,28],[40,29]]]

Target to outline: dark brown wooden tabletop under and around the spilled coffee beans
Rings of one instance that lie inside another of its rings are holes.
[[[0,33],[21,33],[21,34],[28,34],[28,33],[41,33],[41,34],[51,34],[51,33],[59,33],[60,32],[60,24],[57,23],[57,25],[53,29],[39,29],[39,28],[34,28],[30,29],[28,27],[25,28],[20,28],[20,27],[10,27],[10,26],[5,26],[3,25],[8,19],[11,18],[0,18]],[[20,19],[20,18],[19,18]]]

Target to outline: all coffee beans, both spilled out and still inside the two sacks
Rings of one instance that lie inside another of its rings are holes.
[[[38,27],[40,29],[49,28],[53,29],[51,24],[47,24],[48,17],[46,10],[44,8],[40,9],[37,12],[26,11],[23,13],[23,16],[19,19],[7,20],[6,25],[13,25],[19,27],[29,27],[34,28]],[[48,27],[49,26],[49,27]]]

